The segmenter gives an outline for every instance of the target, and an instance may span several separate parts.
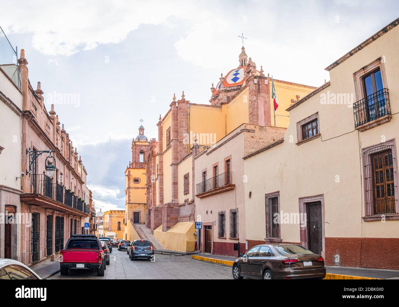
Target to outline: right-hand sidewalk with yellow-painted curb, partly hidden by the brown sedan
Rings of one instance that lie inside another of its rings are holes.
[[[211,254],[195,254],[191,258],[225,266],[233,266],[237,257]],[[367,268],[350,268],[345,266],[326,266],[325,279],[399,279],[399,270],[381,270]]]

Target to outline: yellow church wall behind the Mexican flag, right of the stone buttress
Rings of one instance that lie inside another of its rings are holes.
[[[271,125],[274,126],[274,115],[273,115],[273,100],[272,96],[272,82],[270,83],[270,114],[271,114]],[[292,103],[291,99],[296,100],[296,95],[300,98],[306,96],[312,92],[315,88],[309,88],[306,86],[301,86],[300,84],[292,84],[289,82],[279,82],[279,80],[274,80],[277,101],[279,102],[279,107],[276,110],[276,127],[287,128],[290,124],[290,118],[288,117],[289,112],[286,111]],[[281,116],[278,116],[281,115]]]

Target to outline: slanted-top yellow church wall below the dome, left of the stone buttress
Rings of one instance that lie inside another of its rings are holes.
[[[229,104],[223,106],[223,113],[227,115],[227,134],[243,123],[249,122],[248,101],[249,89],[247,87]]]

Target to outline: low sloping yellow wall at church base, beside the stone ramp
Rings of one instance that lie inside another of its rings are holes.
[[[162,231],[162,225],[154,230],[154,237],[166,250],[194,252],[195,226],[193,222],[180,222],[168,231]]]

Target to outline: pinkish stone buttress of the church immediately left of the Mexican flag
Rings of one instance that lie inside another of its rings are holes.
[[[248,80],[249,123],[261,126],[271,125],[270,86],[266,77],[251,76]],[[268,82],[267,84],[265,82]]]

